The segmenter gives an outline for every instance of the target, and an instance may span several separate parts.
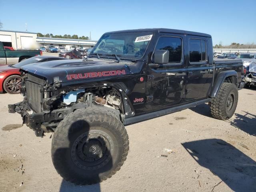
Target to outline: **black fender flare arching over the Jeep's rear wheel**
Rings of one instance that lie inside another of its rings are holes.
[[[222,83],[224,82],[224,80],[227,77],[231,77],[234,76],[235,77],[235,85],[237,87],[238,85],[238,74],[235,70],[227,70],[227,71],[222,71],[218,74],[217,78],[216,78],[216,82],[213,85],[212,91],[210,93],[210,97],[216,97],[218,95],[218,92],[220,90],[220,86],[222,85]]]

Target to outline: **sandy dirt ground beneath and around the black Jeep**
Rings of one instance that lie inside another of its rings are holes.
[[[38,138],[0,94],[1,192],[255,192],[256,89],[239,91],[227,121],[207,104],[126,126],[130,151],[121,170],[92,186],[64,181],[51,160],[51,134]]]

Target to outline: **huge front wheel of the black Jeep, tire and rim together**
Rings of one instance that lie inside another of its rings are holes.
[[[66,116],[52,139],[52,162],[65,180],[95,184],[110,178],[124,164],[129,140],[112,113],[86,108]]]

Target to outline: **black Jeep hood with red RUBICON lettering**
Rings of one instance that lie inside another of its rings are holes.
[[[42,76],[49,83],[54,82],[54,77],[59,77],[61,82],[70,82],[130,75],[130,68],[125,62],[98,59],[40,62],[22,66],[21,69]]]

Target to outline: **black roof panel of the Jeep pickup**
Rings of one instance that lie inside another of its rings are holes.
[[[185,31],[185,30],[177,30],[177,29],[166,29],[166,28],[147,28],[147,29],[121,30],[121,31],[106,32],[105,34],[128,33],[128,32],[155,32],[155,33],[164,32],[164,33],[176,33],[176,34],[187,34],[187,35],[212,37],[211,35],[205,34],[205,33]]]

